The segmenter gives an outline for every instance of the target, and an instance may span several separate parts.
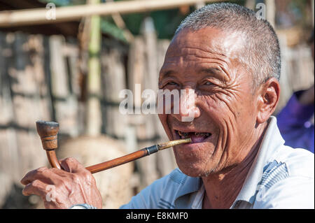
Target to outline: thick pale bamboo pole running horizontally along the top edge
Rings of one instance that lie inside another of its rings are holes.
[[[52,8],[6,10],[0,13],[0,27],[14,27],[34,24],[49,24],[80,20],[91,15],[113,15],[116,13],[141,13],[152,10],[179,8],[180,6],[196,5],[197,3],[215,0],[148,0],[148,1],[114,1],[80,6],[55,8],[55,19],[48,20],[46,15]],[[223,0],[224,1],[224,0]]]

